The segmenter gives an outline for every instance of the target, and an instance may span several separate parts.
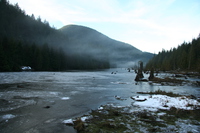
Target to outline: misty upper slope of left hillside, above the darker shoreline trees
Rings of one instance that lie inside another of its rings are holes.
[[[26,15],[18,4],[10,5],[7,0],[1,0],[0,9],[1,37],[6,36],[39,44],[47,41],[49,36],[58,34],[57,30],[51,28],[46,20],[42,22],[40,17]]]

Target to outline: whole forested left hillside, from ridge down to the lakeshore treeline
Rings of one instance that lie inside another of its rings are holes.
[[[110,67],[108,61],[68,54],[63,40],[69,42],[46,20],[28,16],[18,4],[0,0],[0,71],[19,71],[21,66],[37,71]]]

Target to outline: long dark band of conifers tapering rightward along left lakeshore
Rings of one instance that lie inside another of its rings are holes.
[[[62,49],[53,49],[48,44],[38,46],[6,37],[0,39],[0,71],[20,71],[21,66],[31,66],[35,71],[63,71],[102,69],[109,67],[109,63],[68,57]]]

